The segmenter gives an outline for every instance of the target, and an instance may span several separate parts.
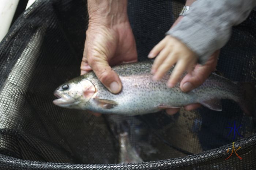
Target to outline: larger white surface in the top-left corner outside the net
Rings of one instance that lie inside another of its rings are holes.
[[[0,41],[8,32],[19,0],[0,0]]]

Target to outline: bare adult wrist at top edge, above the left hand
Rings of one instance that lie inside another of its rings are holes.
[[[88,0],[89,24],[113,26],[127,22],[127,0]]]

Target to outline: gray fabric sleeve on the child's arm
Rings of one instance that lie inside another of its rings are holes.
[[[204,64],[229,40],[232,26],[244,21],[256,0],[197,0],[166,34],[183,42]]]

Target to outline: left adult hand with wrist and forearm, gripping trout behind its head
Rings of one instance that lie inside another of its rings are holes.
[[[81,63],[81,75],[93,70],[112,93],[122,84],[110,66],[137,61],[135,39],[127,16],[127,1],[88,1],[89,26]]]

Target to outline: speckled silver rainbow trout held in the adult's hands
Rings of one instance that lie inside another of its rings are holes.
[[[231,99],[241,109],[255,115],[255,87],[250,83],[237,83],[212,73],[199,87],[182,92],[179,84],[166,86],[172,69],[159,81],[153,81],[150,73],[152,61],[113,67],[123,83],[122,91],[112,94],[89,72],[72,79],[56,89],[53,101],[60,107],[91,110],[100,113],[138,115],[177,108],[191,103],[201,103],[212,110],[221,111],[220,99]]]

